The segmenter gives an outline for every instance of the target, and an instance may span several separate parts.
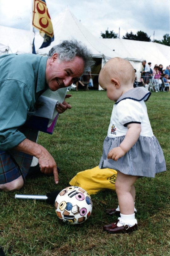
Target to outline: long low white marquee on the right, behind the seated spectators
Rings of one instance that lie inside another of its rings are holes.
[[[140,78],[142,60],[151,62],[153,69],[155,64],[162,64],[164,69],[170,64],[170,47],[153,42],[135,41],[127,39],[100,39],[106,46],[121,54],[122,58],[129,60],[137,70]]]

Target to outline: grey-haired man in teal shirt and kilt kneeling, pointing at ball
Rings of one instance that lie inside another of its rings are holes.
[[[92,64],[91,52],[76,40],[54,46],[48,57],[35,54],[0,57],[0,190],[7,192],[23,186],[33,156],[38,158],[40,171],[44,175],[53,172],[58,183],[54,158],[36,143],[38,131],[24,124],[46,89],[56,91],[70,86]],[[63,113],[71,106],[63,101],[56,108]]]

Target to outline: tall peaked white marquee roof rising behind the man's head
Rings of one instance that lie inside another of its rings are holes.
[[[116,53],[93,36],[68,8],[53,19],[52,24],[55,40],[50,46],[38,49],[38,46],[40,47],[42,44],[42,37],[39,34],[35,37],[35,48],[38,49],[38,54],[46,55],[52,46],[62,40],[76,39],[83,42],[91,50],[95,58],[109,59],[116,56]]]

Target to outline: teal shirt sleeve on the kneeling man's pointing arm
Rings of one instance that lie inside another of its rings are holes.
[[[22,82],[11,79],[0,85],[0,149],[6,151],[26,138],[18,127],[25,123],[32,99]]]

